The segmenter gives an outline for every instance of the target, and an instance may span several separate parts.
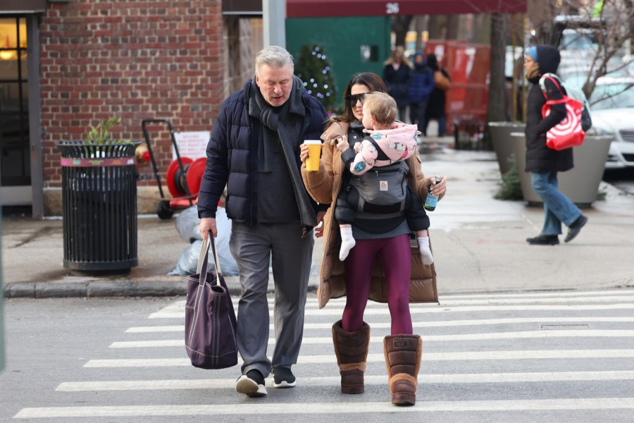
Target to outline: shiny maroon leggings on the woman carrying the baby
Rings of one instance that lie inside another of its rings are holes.
[[[347,290],[342,317],[344,331],[358,331],[363,326],[372,267],[378,256],[387,281],[387,306],[392,316],[392,335],[412,334],[409,314],[410,248],[407,234],[394,238],[356,240],[356,245],[344,262]]]

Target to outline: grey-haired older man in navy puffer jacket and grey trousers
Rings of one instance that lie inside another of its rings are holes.
[[[266,47],[256,56],[255,76],[225,99],[211,130],[201,182],[199,230],[215,237],[218,201],[227,187],[232,220],[230,250],[240,273],[237,346],[244,364],[236,391],[265,396],[264,379],[273,372],[276,388],[295,386],[304,329],[304,306],[314,240],[323,219],[304,188],[299,145],[318,140],[328,117],[323,106],[293,75],[292,56]],[[269,264],[275,283],[275,348],[268,346]]]

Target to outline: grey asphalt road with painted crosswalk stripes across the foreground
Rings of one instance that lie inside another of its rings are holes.
[[[235,392],[182,345],[184,298],[7,300],[1,422],[631,422],[634,290],[445,295],[412,305],[423,362],[415,407],[390,404],[385,305],[371,302],[366,393],[340,393],[330,326],[311,295],[298,385]],[[267,384],[271,384],[268,379]]]

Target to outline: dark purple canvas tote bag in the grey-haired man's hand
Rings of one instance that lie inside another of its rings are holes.
[[[207,271],[209,245],[216,271]],[[203,241],[198,273],[187,278],[185,302],[185,348],[192,366],[201,369],[225,369],[237,364],[235,312],[213,235]]]

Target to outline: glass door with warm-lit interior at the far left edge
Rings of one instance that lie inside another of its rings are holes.
[[[2,205],[31,204],[26,19],[0,18]]]

